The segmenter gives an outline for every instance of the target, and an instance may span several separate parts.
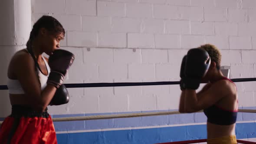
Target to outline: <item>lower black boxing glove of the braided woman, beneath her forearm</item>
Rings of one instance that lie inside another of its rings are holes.
[[[63,105],[69,102],[69,92],[65,85],[60,85],[56,90],[49,105]]]

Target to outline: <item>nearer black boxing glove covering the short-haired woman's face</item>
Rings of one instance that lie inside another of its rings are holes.
[[[210,56],[204,49],[194,48],[187,52],[184,88],[196,90],[210,67]]]

